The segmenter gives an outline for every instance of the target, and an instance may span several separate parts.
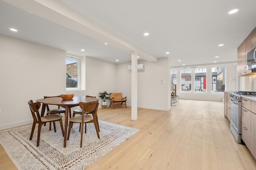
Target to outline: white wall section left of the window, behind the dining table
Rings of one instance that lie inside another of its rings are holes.
[[[0,35],[0,130],[32,123],[28,101],[66,93],[66,51]]]

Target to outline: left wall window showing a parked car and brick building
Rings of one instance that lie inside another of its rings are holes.
[[[67,56],[66,57],[66,89],[76,90],[79,89],[79,64],[80,59],[76,57]],[[71,67],[74,65],[74,67]],[[76,67],[75,67],[76,65]]]

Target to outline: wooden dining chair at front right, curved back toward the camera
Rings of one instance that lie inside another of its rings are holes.
[[[85,130],[85,133],[86,133],[86,123],[94,123],[94,127],[96,129],[97,136],[98,136],[98,138],[100,138],[100,134],[99,134],[99,130],[98,130],[99,127],[98,127],[97,122],[96,122],[96,117],[97,117],[97,111],[98,111],[99,103],[98,103],[98,101],[90,102],[90,103],[80,102],[79,106],[82,109],[82,113],[79,116],[75,116],[75,117],[70,118],[70,120],[69,120],[69,127],[68,127],[68,138],[67,138],[67,140],[69,140],[70,130],[71,130],[72,124],[73,123],[80,123],[82,125],[80,148],[82,148],[84,124],[85,124],[84,130]],[[92,116],[91,115],[87,115],[86,112],[92,113]]]

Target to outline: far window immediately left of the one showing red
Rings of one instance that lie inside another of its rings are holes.
[[[180,71],[181,91],[191,91],[191,69],[183,69]]]

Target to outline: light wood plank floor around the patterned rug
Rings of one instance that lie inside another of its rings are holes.
[[[224,118],[224,103],[180,100],[170,111],[128,107],[98,110],[100,120],[140,132],[86,170],[256,170],[248,148],[237,144]],[[0,169],[16,169],[0,147]]]

